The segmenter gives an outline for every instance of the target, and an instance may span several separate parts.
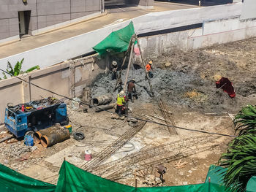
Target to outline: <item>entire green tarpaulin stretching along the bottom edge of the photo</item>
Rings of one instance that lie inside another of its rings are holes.
[[[97,175],[91,174],[79,169],[78,167],[64,161],[59,171],[58,184],[51,185],[39,180],[34,180],[23,174],[0,164],[0,191],[21,191],[21,192],[224,192],[225,187],[219,185],[222,183],[219,174],[216,171],[223,169],[219,166],[210,166],[206,183],[197,185],[181,185],[154,188],[134,188],[128,185],[122,185],[110,180],[106,180]],[[211,177],[211,183],[208,183],[208,177]],[[247,184],[248,192],[256,191],[256,177],[252,177]]]

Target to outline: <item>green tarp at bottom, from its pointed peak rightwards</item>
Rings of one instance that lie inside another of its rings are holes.
[[[170,187],[154,187],[154,188],[134,188],[128,185],[122,185],[110,180],[106,180],[97,175],[91,174],[79,169],[78,167],[69,164],[67,161],[61,166],[59,172],[59,181],[56,187],[56,192],[200,192],[225,191],[225,187],[215,183],[202,183],[197,185],[181,185]]]

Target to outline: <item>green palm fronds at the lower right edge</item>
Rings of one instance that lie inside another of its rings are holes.
[[[219,159],[227,167],[222,180],[230,191],[246,191],[249,179],[256,175],[256,135],[245,134],[230,142],[227,153]]]

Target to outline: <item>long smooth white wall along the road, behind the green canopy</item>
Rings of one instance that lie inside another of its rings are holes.
[[[243,4],[226,4],[213,7],[200,7],[195,9],[181,9],[166,12],[152,12],[132,19],[135,25],[135,33],[142,34],[151,31],[158,31],[166,28],[186,26],[194,23],[201,23],[203,20],[217,20],[222,18],[233,18],[241,15]],[[127,26],[130,20],[118,23],[76,37],[64,39],[50,45],[38,47],[24,53],[12,55],[0,59],[0,68],[5,67],[7,61],[16,63],[25,58],[24,69],[34,65],[41,68],[58,64],[69,58],[83,55],[92,51],[92,47],[102,41],[112,31],[116,31]]]

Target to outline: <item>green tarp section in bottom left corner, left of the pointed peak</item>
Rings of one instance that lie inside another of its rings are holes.
[[[0,191],[50,192],[55,189],[56,185],[35,180],[0,164]]]

